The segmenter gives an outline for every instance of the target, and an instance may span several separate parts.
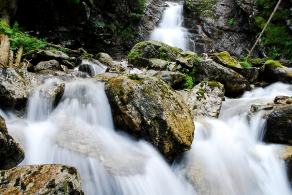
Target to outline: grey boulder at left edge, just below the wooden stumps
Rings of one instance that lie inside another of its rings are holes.
[[[22,77],[13,68],[0,69],[0,106],[24,106],[31,86],[30,80]]]

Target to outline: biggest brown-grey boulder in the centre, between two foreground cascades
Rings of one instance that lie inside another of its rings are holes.
[[[116,126],[148,140],[168,159],[190,149],[194,123],[183,98],[163,81],[141,75],[106,83]]]

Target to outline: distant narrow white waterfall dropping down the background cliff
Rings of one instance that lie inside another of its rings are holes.
[[[151,33],[150,39],[187,50],[187,30],[182,26],[183,4],[174,2],[166,3],[167,8],[163,12],[162,20],[158,27]]]

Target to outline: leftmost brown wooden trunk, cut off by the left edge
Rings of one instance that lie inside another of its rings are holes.
[[[6,67],[9,64],[10,43],[9,37],[0,34],[0,67]]]

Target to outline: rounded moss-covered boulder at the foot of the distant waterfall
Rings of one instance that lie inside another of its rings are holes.
[[[128,54],[129,63],[136,67],[148,67],[151,65],[149,59],[161,59],[168,62],[174,62],[181,49],[171,47],[158,41],[143,41],[137,43]]]

